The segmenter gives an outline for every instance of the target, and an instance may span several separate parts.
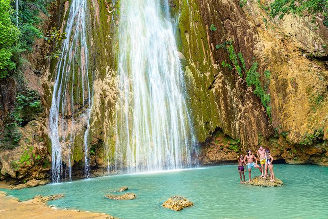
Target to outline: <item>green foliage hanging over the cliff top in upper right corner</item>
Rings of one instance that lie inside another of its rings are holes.
[[[275,0],[271,3],[270,16],[281,19],[285,14],[317,14],[323,12],[324,25],[328,26],[328,0]]]

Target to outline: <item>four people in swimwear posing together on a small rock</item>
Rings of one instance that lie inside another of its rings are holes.
[[[257,164],[257,158],[260,161],[260,165]],[[263,149],[263,146],[260,146],[260,148],[257,150],[257,158],[255,155],[252,154],[251,150],[247,151],[247,155],[243,156],[240,155],[237,157],[238,159],[238,171],[240,176],[240,183],[243,183],[243,179],[245,182],[245,174],[246,172],[246,166],[248,168],[248,176],[249,176],[249,182],[251,181],[251,172],[252,167],[258,168],[261,172],[261,178],[269,177],[268,175],[268,168],[270,171],[270,181],[275,181],[275,173],[273,171],[273,164],[274,158],[270,154],[270,150],[268,148]],[[247,163],[246,163],[247,161]],[[245,165],[245,167],[244,167]],[[243,178],[242,178],[243,175]]]

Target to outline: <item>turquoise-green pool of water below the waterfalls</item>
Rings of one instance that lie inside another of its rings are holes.
[[[239,184],[236,165],[175,172],[118,175],[7,191],[20,200],[36,194],[63,193],[50,201],[58,208],[104,212],[124,219],[328,218],[328,167],[276,164],[285,185],[261,188]],[[257,175],[259,171],[253,171]],[[248,174],[248,173],[247,173]],[[104,194],[128,186],[135,200],[109,200]],[[170,196],[182,195],[195,206],[180,212],[164,209]]]

